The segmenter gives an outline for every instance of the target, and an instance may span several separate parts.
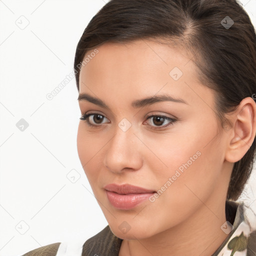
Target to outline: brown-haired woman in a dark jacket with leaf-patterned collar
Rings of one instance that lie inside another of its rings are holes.
[[[256,255],[256,217],[236,201],[256,133],[256,36],[241,5],[110,0],[74,71],[78,155],[108,225],[72,255]]]

